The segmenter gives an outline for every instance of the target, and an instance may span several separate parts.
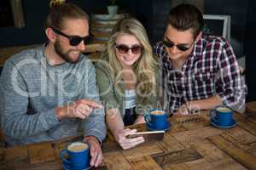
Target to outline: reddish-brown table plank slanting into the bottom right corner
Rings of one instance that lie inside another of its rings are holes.
[[[245,150],[241,150],[236,144],[231,143],[222,136],[212,136],[208,138],[218,148],[224,150],[229,156],[241,163],[248,169],[256,169],[256,157]]]

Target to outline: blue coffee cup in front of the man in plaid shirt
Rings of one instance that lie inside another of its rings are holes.
[[[210,116],[212,121],[216,122],[219,126],[230,126],[232,122],[233,112],[230,108],[225,106],[217,106],[212,111],[210,111]]]

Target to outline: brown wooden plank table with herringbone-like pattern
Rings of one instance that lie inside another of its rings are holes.
[[[194,116],[173,116],[172,127],[163,141],[146,142],[121,150],[109,135],[102,144],[104,160],[96,169],[256,169],[256,116],[234,114],[237,126],[212,127],[207,112]],[[138,131],[145,125],[133,126]],[[69,142],[27,144],[0,150],[0,169],[61,169],[60,151]]]

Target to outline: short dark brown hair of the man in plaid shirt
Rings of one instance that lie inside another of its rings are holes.
[[[194,5],[182,3],[169,12],[168,25],[178,31],[187,31],[192,28],[195,38],[203,29],[203,15]]]

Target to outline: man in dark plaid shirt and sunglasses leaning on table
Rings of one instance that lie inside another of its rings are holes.
[[[202,28],[198,8],[178,5],[169,13],[164,40],[154,46],[168,110],[187,115],[226,105],[242,112],[247,88],[230,42],[203,36]]]

